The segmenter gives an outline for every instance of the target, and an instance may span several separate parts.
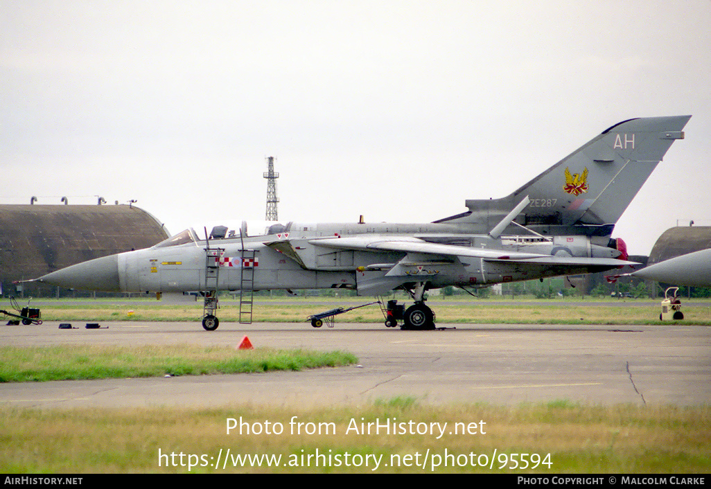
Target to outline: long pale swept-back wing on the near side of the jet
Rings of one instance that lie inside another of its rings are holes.
[[[612,258],[587,257],[554,257],[548,254],[508,252],[501,249],[485,249],[456,246],[454,244],[438,244],[420,240],[416,237],[327,237],[309,240],[309,244],[336,249],[360,249],[363,251],[392,251],[407,253],[422,253],[432,255],[447,255],[452,257],[482,258],[493,262],[522,262],[541,265],[582,265],[619,267],[634,262]]]

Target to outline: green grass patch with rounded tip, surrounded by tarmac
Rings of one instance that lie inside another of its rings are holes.
[[[0,382],[254,373],[338,367],[357,361],[353,354],[342,351],[237,350],[228,346],[5,346],[0,347]]]

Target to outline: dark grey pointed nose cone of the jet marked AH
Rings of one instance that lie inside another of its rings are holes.
[[[119,257],[112,254],[109,257],[77,263],[41,276],[38,281],[66,289],[120,292]]]

